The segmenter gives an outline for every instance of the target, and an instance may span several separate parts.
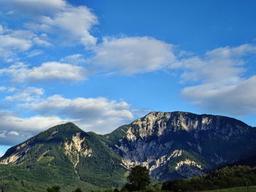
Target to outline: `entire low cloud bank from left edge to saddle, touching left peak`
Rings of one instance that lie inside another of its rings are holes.
[[[20,118],[17,113],[0,111],[0,145],[15,145],[19,142],[62,123],[72,122],[84,131],[106,134],[134,119],[127,102],[109,101],[105,98],[66,99],[59,95],[47,99],[24,99],[20,104],[37,116]]]

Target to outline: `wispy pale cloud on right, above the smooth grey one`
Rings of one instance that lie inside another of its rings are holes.
[[[171,69],[181,69],[183,82],[207,82],[215,85],[229,85],[241,80],[244,57],[256,53],[253,45],[220,47],[206,52],[203,57],[195,56],[181,59],[172,64]]]

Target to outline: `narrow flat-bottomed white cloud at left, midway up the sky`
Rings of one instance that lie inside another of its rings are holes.
[[[0,69],[0,75],[9,75],[15,82],[47,82],[50,80],[78,82],[86,80],[86,69],[82,66],[59,62],[47,62],[32,68],[18,63],[9,68]]]

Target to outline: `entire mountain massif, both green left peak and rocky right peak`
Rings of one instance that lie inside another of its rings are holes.
[[[67,123],[7,150],[0,189],[118,187],[135,165],[158,181],[193,177],[256,154],[255,139],[256,128],[240,120],[189,112],[150,112],[106,135]]]

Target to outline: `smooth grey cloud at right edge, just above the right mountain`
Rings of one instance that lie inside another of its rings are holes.
[[[256,114],[256,76],[222,87],[202,84],[184,88],[185,99],[208,112],[231,115]]]

